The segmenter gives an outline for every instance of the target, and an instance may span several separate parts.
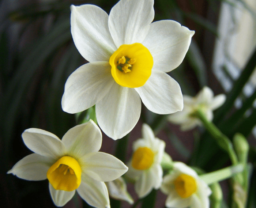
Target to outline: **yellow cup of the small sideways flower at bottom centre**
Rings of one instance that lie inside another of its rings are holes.
[[[148,147],[139,147],[132,155],[132,167],[147,170],[154,162],[154,153]]]

